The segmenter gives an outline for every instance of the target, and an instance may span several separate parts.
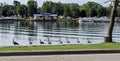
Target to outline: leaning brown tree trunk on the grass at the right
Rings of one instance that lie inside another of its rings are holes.
[[[109,25],[109,29],[108,29],[108,36],[105,37],[106,42],[113,42],[112,33],[113,33],[114,24],[115,24],[115,17],[117,15],[117,7],[118,7],[119,0],[112,0],[112,2],[113,2],[113,8],[111,10],[110,25]]]

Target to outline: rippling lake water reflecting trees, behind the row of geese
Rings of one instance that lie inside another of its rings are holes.
[[[0,23],[0,46],[14,46],[13,38],[20,46],[28,46],[29,38],[33,45],[40,45],[39,40],[48,45],[48,38],[52,45],[60,45],[59,39],[66,43],[66,39],[70,44],[91,44],[104,42],[104,36],[107,35],[109,23],[56,23],[56,22],[11,22]],[[120,23],[115,24],[114,41],[120,42]]]

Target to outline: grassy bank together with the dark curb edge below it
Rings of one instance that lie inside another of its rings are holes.
[[[0,56],[120,53],[120,43],[0,47]]]

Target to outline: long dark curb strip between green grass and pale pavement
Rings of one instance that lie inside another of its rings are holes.
[[[30,56],[30,55],[65,55],[65,54],[112,54],[120,50],[77,50],[77,51],[32,51],[32,52],[0,52],[0,56]]]

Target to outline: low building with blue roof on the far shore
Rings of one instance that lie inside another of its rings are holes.
[[[51,13],[34,14],[34,20],[57,20],[57,17],[57,14]]]

